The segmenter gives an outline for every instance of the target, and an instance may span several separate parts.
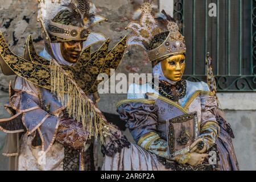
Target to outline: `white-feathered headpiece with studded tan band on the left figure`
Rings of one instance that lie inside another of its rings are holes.
[[[86,40],[88,28],[106,20],[88,0],[40,0],[38,21],[51,43]]]

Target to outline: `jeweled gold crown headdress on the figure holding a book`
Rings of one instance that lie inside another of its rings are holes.
[[[184,36],[174,19],[164,11],[154,17],[150,3],[143,3],[141,9],[140,22],[131,22],[127,26],[134,33],[128,38],[127,46],[142,47],[153,66],[164,57],[186,52]]]

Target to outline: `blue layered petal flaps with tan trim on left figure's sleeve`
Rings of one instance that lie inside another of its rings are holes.
[[[21,117],[26,134],[34,136],[32,145],[48,151],[55,140],[59,118],[42,109],[41,105],[39,94],[16,90],[6,106]]]

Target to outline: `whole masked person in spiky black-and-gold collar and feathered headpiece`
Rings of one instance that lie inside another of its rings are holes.
[[[105,20],[90,1],[42,0],[39,7],[46,43],[39,55],[31,36],[19,57],[0,33],[2,71],[17,76],[5,105],[12,116],[0,119],[0,130],[8,134],[3,155],[15,170],[94,170],[96,140],[106,155],[130,144],[96,105],[97,76],[117,68],[126,38],[109,49],[109,39],[89,32]]]

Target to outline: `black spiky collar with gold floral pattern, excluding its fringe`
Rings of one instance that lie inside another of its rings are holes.
[[[123,38],[111,51],[108,52],[109,40],[90,54],[90,47],[82,51],[77,64],[73,67],[62,68],[71,76],[85,93],[97,92],[97,76],[106,73],[110,77],[110,69],[117,69],[122,60],[126,48],[126,37]],[[28,36],[26,49],[28,60],[16,56],[10,51],[3,35],[0,32],[1,56],[6,64],[16,73],[35,85],[51,89],[51,61],[40,57],[32,44],[31,36]],[[91,58],[92,57],[92,58]]]

